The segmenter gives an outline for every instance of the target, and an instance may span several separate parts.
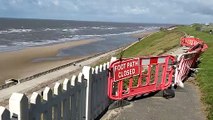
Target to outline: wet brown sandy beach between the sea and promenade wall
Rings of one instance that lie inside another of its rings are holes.
[[[89,44],[95,41],[97,40],[76,40],[54,45],[30,47],[12,52],[1,52],[0,84],[10,78],[20,79],[78,59],[77,57],[67,57],[62,60],[32,62],[36,58],[54,57],[60,49]]]

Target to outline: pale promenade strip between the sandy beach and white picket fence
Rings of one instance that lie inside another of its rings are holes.
[[[142,34],[144,34],[144,33],[141,33],[141,35]],[[8,107],[7,106],[8,100],[9,100],[10,95],[13,92],[25,93],[29,97],[33,92],[35,92],[35,91],[40,92],[46,86],[53,87],[55,82],[61,83],[61,82],[63,82],[64,78],[70,77],[70,75],[73,75],[73,74],[77,74],[82,69],[83,66],[85,66],[85,65],[90,66],[92,64],[96,64],[97,61],[99,61],[100,59],[103,59],[103,58],[109,57],[109,56],[114,56],[115,54],[117,54],[117,52],[120,51],[120,49],[123,49],[123,48],[121,47],[116,50],[112,50],[112,51],[100,54],[96,57],[86,59],[85,61],[82,61],[81,63],[77,63],[78,64],[77,66],[69,66],[67,68],[60,69],[59,71],[55,71],[53,73],[46,74],[44,76],[23,82],[21,84],[17,84],[17,85],[11,86],[9,88],[2,89],[1,90],[2,97],[0,98],[0,103],[3,106]],[[65,61],[64,63],[66,64],[66,63],[70,63],[70,62],[72,62],[72,61],[67,61],[67,62]],[[62,65],[64,65],[64,64],[62,64]],[[81,66],[79,66],[79,65],[81,65]],[[39,72],[42,72],[42,71],[40,70]],[[64,73],[66,73],[66,74],[64,74]],[[57,76],[57,74],[63,74],[64,77],[62,78],[60,75],[59,75],[59,77],[55,77],[55,76]],[[49,77],[47,77],[47,76],[49,76]],[[25,77],[27,77],[27,76],[25,76]]]

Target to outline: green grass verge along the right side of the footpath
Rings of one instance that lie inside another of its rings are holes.
[[[208,44],[208,50],[201,56],[196,80],[203,95],[202,101],[207,105],[208,119],[213,120],[213,35],[196,31],[195,26],[182,26],[178,30],[203,39]]]

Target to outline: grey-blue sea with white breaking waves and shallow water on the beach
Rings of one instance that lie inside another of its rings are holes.
[[[88,22],[73,20],[0,18],[0,52],[82,39],[97,42],[62,49],[57,57],[85,56],[117,49],[137,41],[134,33],[155,31],[169,24]]]

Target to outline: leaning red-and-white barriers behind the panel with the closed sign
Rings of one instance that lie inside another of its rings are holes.
[[[208,46],[199,38],[183,37],[181,45],[190,47],[186,53],[180,54],[177,58],[177,67],[175,70],[175,84],[183,87],[182,81],[188,77],[190,70],[196,65],[198,58]]]

